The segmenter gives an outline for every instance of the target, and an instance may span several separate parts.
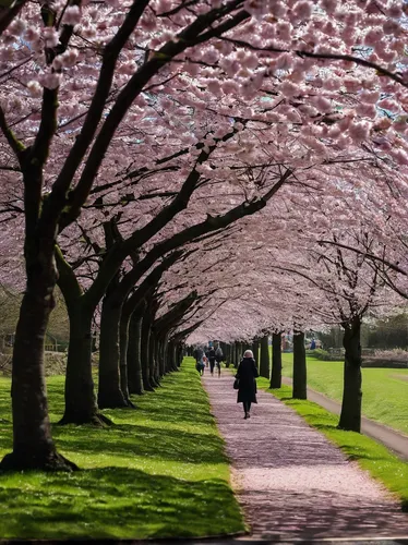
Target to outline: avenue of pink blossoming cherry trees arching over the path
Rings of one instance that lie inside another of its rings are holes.
[[[183,343],[345,331],[339,425],[359,429],[360,330],[408,294],[403,1],[46,0],[0,11],[1,282],[23,292],[13,448],[51,437],[44,341],[70,323],[61,424],[108,425]],[[98,391],[93,330],[100,331]],[[280,384],[274,348],[271,386]]]

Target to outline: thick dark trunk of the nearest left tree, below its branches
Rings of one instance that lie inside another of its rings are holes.
[[[57,282],[52,232],[50,239],[26,238],[27,284],[12,366],[13,451],[1,461],[2,471],[76,469],[57,452],[48,417],[44,342]]]

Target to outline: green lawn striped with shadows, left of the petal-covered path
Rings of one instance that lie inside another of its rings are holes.
[[[63,377],[48,379],[51,421]],[[224,444],[192,359],[137,410],[105,411],[115,426],[53,426],[59,450],[82,471],[0,476],[0,537],[146,538],[244,530]],[[11,449],[10,380],[0,379],[0,456]],[[7,422],[4,422],[7,421]]]

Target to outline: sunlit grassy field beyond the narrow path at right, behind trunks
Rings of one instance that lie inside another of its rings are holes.
[[[292,376],[293,354],[284,353],[283,374]],[[308,386],[328,398],[341,401],[343,362],[308,358]],[[408,370],[363,368],[362,412],[408,435]]]

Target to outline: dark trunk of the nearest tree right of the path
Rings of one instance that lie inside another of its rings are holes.
[[[345,327],[345,371],[341,413],[338,427],[349,432],[361,432],[361,318],[356,316]]]

